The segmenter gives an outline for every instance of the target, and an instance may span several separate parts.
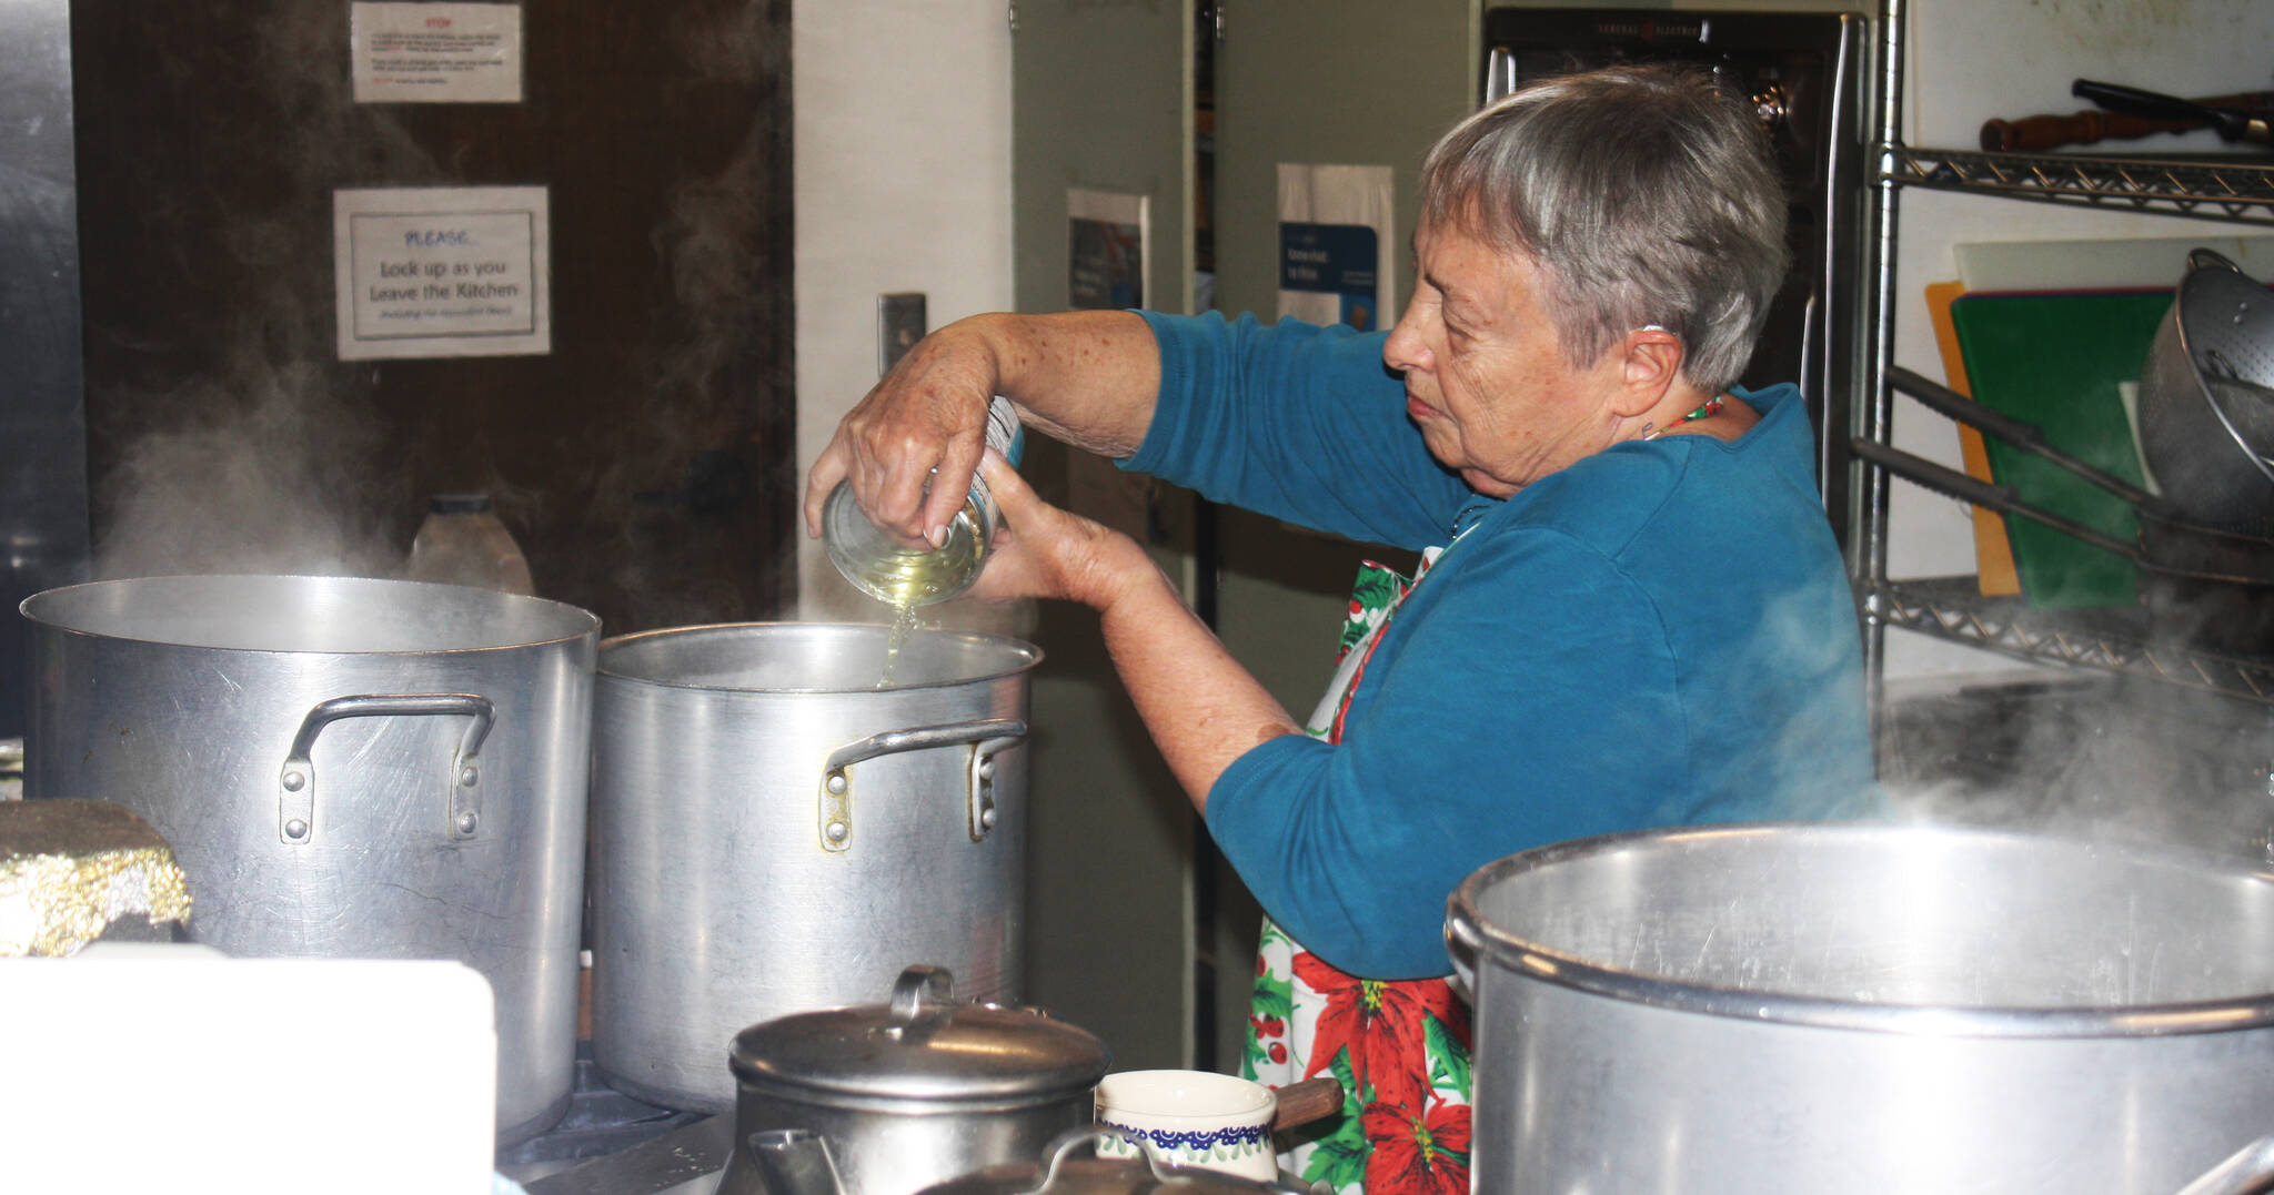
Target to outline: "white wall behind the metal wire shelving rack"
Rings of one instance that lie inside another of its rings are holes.
[[[1903,141],[1972,150],[1987,118],[2069,114],[2069,82],[2101,80],[2176,95],[2274,89],[2274,2],[2267,0],[1912,0]],[[2103,143],[2097,152],[2217,150],[2213,134]],[[1931,282],[1958,277],[1951,245],[1969,241],[2069,241],[2263,234],[2247,225],[2174,220],[2128,211],[2067,209],[1906,189],[1897,252],[1894,357],[1942,377],[1926,302]],[[2178,279],[2174,266],[2172,279]],[[1908,400],[1894,443],[1958,466],[1949,420]],[[1890,573],[1933,577],[1974,570],[1969,509],[1894,482]],[[1944,672],[2010,668],[1999,657],[1908,632],[1887,636],[1887,677],[1935,684]],[[1947,679],[1944,679],[1947,684]]]

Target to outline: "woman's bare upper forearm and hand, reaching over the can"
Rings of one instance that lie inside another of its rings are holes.
[[[1144,443],[1160,395],[1153,329],[1128,311],[1067,311],[971,316],[926,336],[814,459],[805,534],[821,534],[821,504],[850,479],[873,523],[941,543],[971,488],[994,395],[1051,438],[1123,459]]]

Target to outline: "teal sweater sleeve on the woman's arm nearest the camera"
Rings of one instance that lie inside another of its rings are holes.
[[[1660,611],[1592,548],[1462,541],[1405,602],[1385,636],[1410,641],[1376,650],[1339,745],[1273,738],[1207,795],[1271,918],[1369,979],[1449,972],[1444,906],[1469,872],[1653,825],[1685,772]]]

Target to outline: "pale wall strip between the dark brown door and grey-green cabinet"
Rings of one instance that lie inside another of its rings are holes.
[[[1012,302],[1005,0],[791,9],[798,470],[875,384],[875,298],[939,327]],[[800,486],[803,493],[803,486]],[[800,534],[798,618],[878,620]]]

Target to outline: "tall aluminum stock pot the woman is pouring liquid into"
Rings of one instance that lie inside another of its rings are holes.
[[[910,963],[1016,1002],[1028,672],[982,634],[716,625],[609,638],[594,709],[594,1059],[735,1104],[728,1045]]]

